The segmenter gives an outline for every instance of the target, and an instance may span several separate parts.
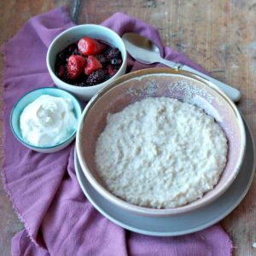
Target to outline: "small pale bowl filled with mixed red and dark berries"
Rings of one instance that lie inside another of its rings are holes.
[[[61,32],[46,56],[55,85],[88,101],[126,71],[125,44],[105,26],[86,24]]]

